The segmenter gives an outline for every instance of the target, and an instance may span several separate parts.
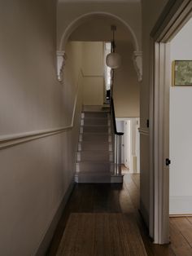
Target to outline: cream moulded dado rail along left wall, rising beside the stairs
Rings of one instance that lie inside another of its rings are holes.
[[[17,144],[26,143],[26,142],[32,141],[34,139],[41,139],[41,138],[44,138],[47,136],[63,133],[67,130],[72,130],[72,128],[74,126],[74,118],[75,118],[75,114],[76,114],[76,102],[77,102],[77,98],[79,95],[79,79],[80,79],[81,75],[82,75],[82,73],[80,71],[79,77],[78,77],[78,82],[77,82],[77,88],[76,88],[76,97],[75,97],[73,109],[72,109],[72,120],[71,120],[71,123],[69,126],[62,126],[62,127],[46,129],[46,130],[28,131],[28,132],[24,132],[24,133],[20,133],[20,134],[18,133],[15,135],[1,135],[0,136],[0,150],[5,149],[5,148],[11,148]]]

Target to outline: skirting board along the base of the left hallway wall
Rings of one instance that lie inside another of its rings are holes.
[[[68,202],[68,198],[72,193],[72,189],[74,188],[74,181],[72,179],[72,183],[70,183],[67,192],[63,196],[63,200],[61,204],[59,205],[58,210],[56,211],[56,214],[53,218],[53,220],[50,223],[50,227],[48,228],[46,235],[44,236],[43,240],[41,241],[41,245],[37,249],[37,253],[35,254],[36,256],[43,256],[46,255],[46,251],[50,246],[50,241],[52,240],[54,233],[55,233],[55,228],[57,227],[57,224],[59,223],[59,219],[62,216],[63,209]]]

